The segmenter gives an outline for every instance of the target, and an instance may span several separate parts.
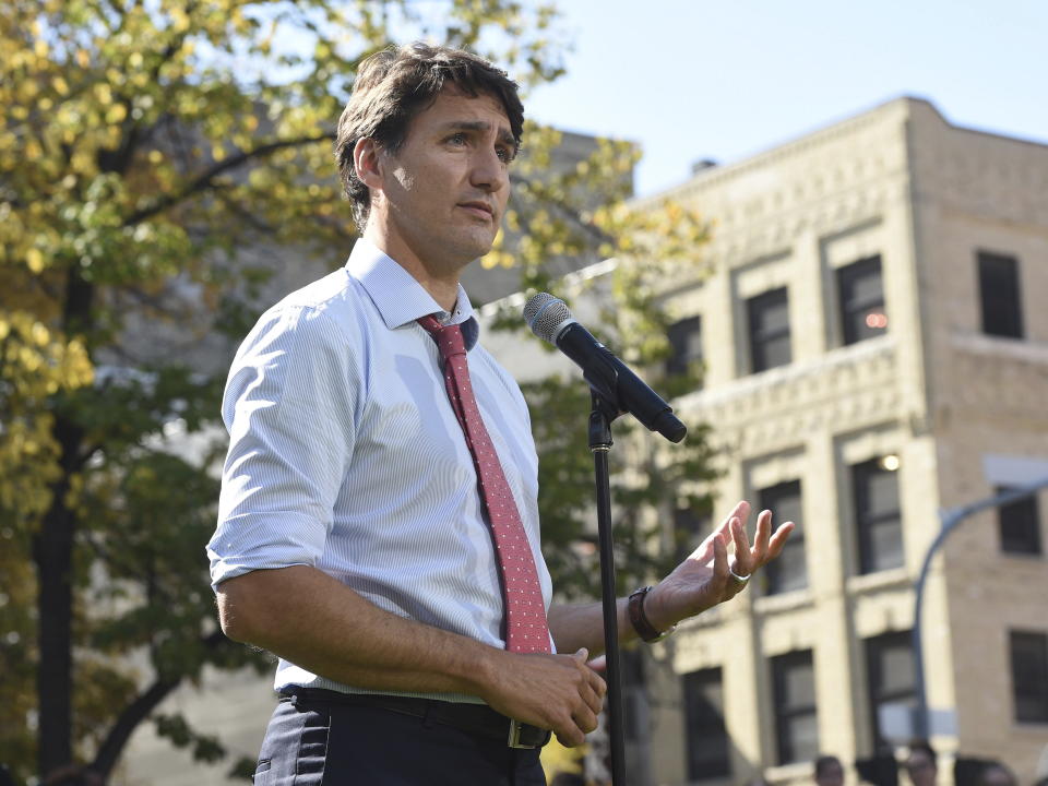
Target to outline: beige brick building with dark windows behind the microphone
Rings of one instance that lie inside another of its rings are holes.
[[[914,701],[939,509],[1048,478],[1048,146],[900,98],[662,196],[713,222],[712,273],[666,306],[679,359],[705,364],[677,408],[723,446],[718,509],[802,526],[762,585],[656,645],[677,678],[656,680],[653,782],[810,782],[817,752],[848,771],[895,739],[878,706]],[[932,563],[943,779],[962,755],[1029,784],[1048,745],[1036,502],[972,517]]]

